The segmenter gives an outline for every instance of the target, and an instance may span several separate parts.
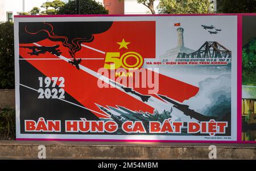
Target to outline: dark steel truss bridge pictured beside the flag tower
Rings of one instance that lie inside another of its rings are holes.
[[[216,41],[206,41],[193,53],[179,53],[176,61],[231,62],[232,52]]]

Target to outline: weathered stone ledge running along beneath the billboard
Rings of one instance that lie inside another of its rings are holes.
[[[38,146],[47,159],[256,159],[256,144],[0,141],[0,159],[37,159]]]

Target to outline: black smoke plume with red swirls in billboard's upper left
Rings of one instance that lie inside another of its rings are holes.
[[[75,53],[81,49],[82,42],[92,42],[94,34],[108,31],[113,22],[20,22],[19,43],[34,43],[44,39],[61,41]]]

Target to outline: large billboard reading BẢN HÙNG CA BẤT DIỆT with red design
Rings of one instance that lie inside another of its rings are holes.
[[[237,15],[14,24],[17,139],[239,140]]]

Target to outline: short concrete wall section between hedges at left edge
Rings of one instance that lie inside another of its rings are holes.
[[[15,108],[14,89],[0,89],[0,108]]]

